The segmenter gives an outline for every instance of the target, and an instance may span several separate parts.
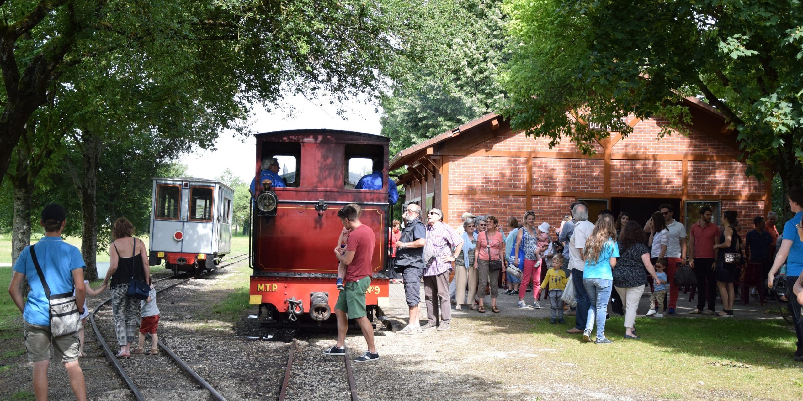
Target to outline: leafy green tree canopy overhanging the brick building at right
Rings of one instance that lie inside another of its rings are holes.
[[[595,138],[629,133],[627,115],[661,115],[683,131],[690,115],[679,100],[697,96],[738,132],[748,173],[801,182],[798,0],[508,0],[505,10],[503,111],[515,128],[590,152]]]

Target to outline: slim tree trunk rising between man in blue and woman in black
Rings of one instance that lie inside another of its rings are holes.
[[[84,279],[92,282],[98,277],[97,269],[97,166],[100,161],[100,146],[98,137],[91,132],[84,132],[83,155],[84,177],[81,188],[81,212],[84,220],[84,233],[81,241],[81,253],[87,269]]]

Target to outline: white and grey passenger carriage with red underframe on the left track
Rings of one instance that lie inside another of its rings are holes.
[[[234,190],[204,178],[153,178],[150,265],[211,269],[231,251]]]

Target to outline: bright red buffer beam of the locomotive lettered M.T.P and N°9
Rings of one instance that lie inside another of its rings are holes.
[[[390,305],[389,279],[373,277],[365,291],[369,318],[381,318],[382,308]],[[249,303],[266,308],[268,320],[277,324],[334,320],[340,291],[336,277],[256,277],[251,276]]]

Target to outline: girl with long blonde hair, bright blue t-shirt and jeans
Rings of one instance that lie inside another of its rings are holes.
[[[591,341],[591,329],[597,322],[597,344],[609,344],[605,338],[605,312],[608,309],[610,292],[613,290],[613,267],[619,257],[619,246],[616,243],[616,225],[613,216],[603,214],[594,225],[589,238],[585,241],[583,258],[585,268],[583,286],[589,294],[589,314],[585,321],[583,340]]]

